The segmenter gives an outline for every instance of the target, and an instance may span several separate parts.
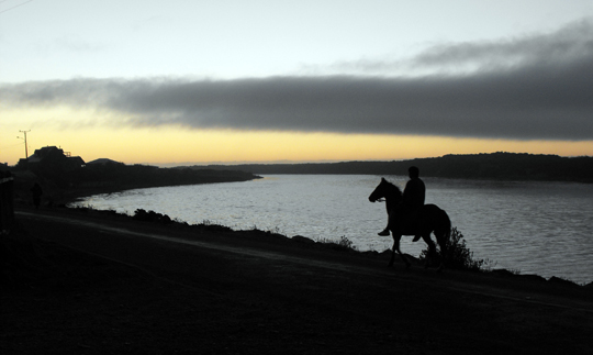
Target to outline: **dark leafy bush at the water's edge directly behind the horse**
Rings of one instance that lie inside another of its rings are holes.
[[[421,260],[425,260],[428,256],[428,248],[422,251],[419,255]],[[438,248],[437,244],[437,258],[443,259],[443,252]],[[445,255],[445,264],[449,268],[465,269],[472,271],[483,271],[490,269],[492,262],[490,259],[474,259],[473,252],[471,252],[463,240],[463,234],[457,230],[451,229],[451,235],[447,242],[447,254]]]

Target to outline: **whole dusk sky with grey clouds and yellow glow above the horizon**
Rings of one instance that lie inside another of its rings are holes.
[[[593,1],[0,0],[0,124],[9,165],[592,156]]]

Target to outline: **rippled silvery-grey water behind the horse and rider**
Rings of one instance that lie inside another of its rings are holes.
[[[407,177],[385,176],[403,189]],[[593,185],[423,178],[426,203],[446,210],[474,258],[495,268],[593,281]],[[153,210],[190,224],[257,228],[312,240],[350,240],[360,251],[382,252],[391,237],[384,203],[369,195],[379,176],[275,175],[225,182],[130,190],[87,198],[79,206],[133,214]],[[404,253],[425,244],[404,236]]]

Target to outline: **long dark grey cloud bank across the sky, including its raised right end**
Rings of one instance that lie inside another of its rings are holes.
[[[5,104],[120,113],[118,125],[593,140],[593,25],[500,43],[433,47],[415,66],[473,65],[422,77],[235,80],[72,79],[0,87]],[[377,64],[374,64],[377,67]]]

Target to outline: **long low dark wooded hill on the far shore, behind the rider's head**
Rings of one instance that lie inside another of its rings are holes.
[[[421,176],[593,182],[593,157],[561,157],[527,153],[445,155],[393,162],[344,162],[307,164],[210,165],[212,169],[236,169],[253,174],[367,174],[407,175],[412,165]]]

